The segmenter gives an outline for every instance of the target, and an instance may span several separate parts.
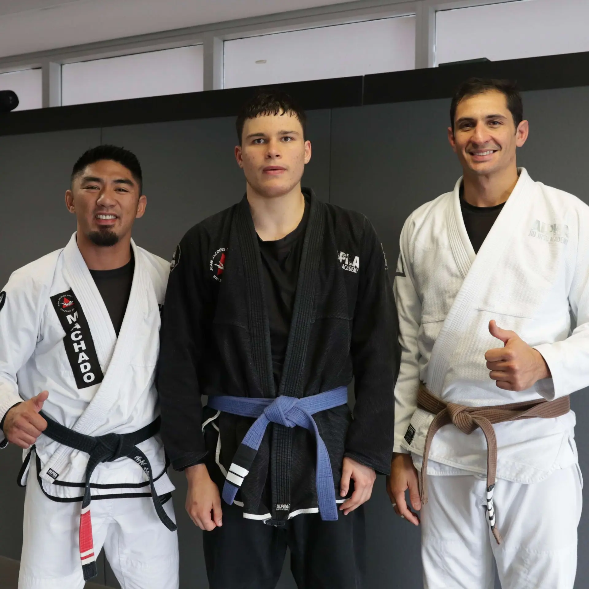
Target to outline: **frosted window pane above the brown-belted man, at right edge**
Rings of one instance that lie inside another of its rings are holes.
[[[524,0],[441,11],[436,61],[491,61],[589,51],[587,0]]]

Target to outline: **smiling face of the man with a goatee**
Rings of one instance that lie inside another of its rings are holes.
[[[78,220],[78,232],[96,246],[114,246],[130,236],[143,217],[147,198],[130,170],[112,160],[87,166],[65,193],[65,204]]]

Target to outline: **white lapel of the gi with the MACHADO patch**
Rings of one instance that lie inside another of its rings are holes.
[[[122,370],[127,368],[131,350],[135,345],[131,341],[133,326],[137,325],[137,321],[143,317],[145,305],[157,304],[154,301],[148,301],[150,297],[154,297],[154,293],[153,289],[150,289],[149,276],[143,257],[133,240],[131,240],[131,248],[135,258],[133,284],[118,338],[100,292],[98,292],[90,270],[88,270],[78,249],[75,233],[64,249],[64,276],[70,284],[72,292],[75,293],[78,304],[84,310],[98,360],[104,373],[104,379],[97,387],[94,398],[88,403],[87,408],[72,428],[81,434],[93,435],[96,429],[105,422],[108,413],[117,402],[121,381],[120,374]],[[45,464],[41,478],[53,482],[55,477],[47,474],[49,469],[58,474],[62,472],[71,452],[71,448],[59,446]]]

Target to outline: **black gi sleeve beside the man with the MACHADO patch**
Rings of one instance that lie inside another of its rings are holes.
[[[200,246],[190,234],[174,254],[160,329],[157,388],[161,437],[176,470],[203,462],[203,405],[198,362],[203,349],[203,276]]]

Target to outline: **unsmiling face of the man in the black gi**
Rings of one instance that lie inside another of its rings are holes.
[[[245,121],[235,157],[247,184],[263,197],[290,193],[300,185],[311,143],[292,113],[260,115]]]

